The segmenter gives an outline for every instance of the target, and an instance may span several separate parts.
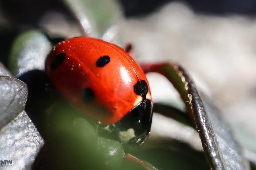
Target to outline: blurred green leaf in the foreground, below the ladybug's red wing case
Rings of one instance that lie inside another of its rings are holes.
[[[72,169],[120,169],[125,158],[122,144],[115,139],[99,136],[97,125],[84,118],[84,111],[60,100],[47,112],[47,145],[40,154],[55,153],[52,156],[58,159],[55,160],[54,169],[65,169],[63,166],[66,162],[77,162]],[[47,161],[48,158],[39,155],[37,168],[47,169],[50,166]],[[42,162],[46,165],[42,165]]]

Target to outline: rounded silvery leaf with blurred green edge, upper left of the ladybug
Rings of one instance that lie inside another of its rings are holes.
[[[38,30],[20,34],[11,47],[9,69],[15,77],[31,70],[44,70],[45,59],[52,46],[48,38]]]

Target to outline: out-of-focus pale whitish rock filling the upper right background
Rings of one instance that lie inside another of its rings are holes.
[[[249,102],[256,99],[254,18],[195,14],[186,5],[174,2],[121,25],[122,39],[133,43],[138,62],[178,63],[190,72],[199,89],[210,91],[208,95],[233,127],[241,125],[256,138],[256,119],[251,118],[256,104]],[[169,87],[156,80],[149,78],[153,100],[170,99],[168,90],[163,94]]]

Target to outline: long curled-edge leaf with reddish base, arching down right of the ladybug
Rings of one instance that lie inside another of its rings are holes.
[[[164,75],[178,90],[199,133],[211,169],[250,169],[230,127],[222,120],[214,104],[207,98],[201,98],[185,70],[172,63],[141,64],[141,67],[145,73],[158,72]]]

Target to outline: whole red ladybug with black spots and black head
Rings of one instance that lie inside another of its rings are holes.
[[[153,102],[141,67],[121,47],[90,37],[55,45],[45,61],[51,84],[87,119],[114,129],[122,143],[150,133]]]

